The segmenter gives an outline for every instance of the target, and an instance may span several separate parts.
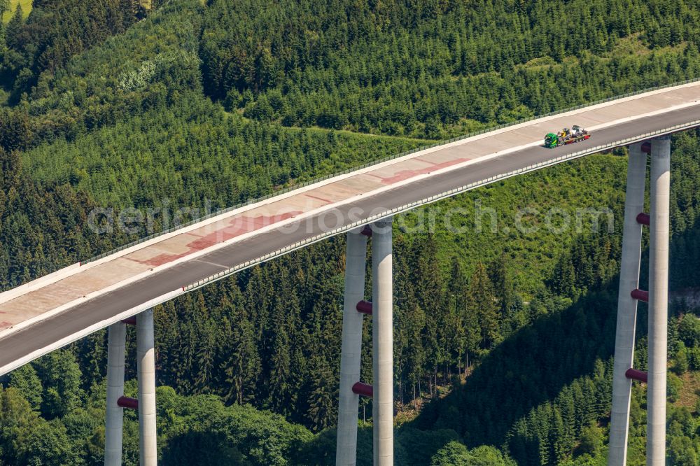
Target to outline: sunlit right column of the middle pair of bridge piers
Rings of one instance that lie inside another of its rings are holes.
[[[393,465],[391,218],[372,225],[372,425],[374,466]]]

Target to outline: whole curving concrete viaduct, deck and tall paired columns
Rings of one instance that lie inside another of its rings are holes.
[[[153,306],[260,262],[347,235],[337,465],[356,460],[358,397],[373,397],[374,465],[393,464],[391,219],[496,181],[629,146],[608,465],[625,464],[633,380],[647,383],[647,465],[666,456],[666,338],[671,141],[700,126],[700,82],[608,99],[453,139],[218,212],[0,294],[0,374],[109,328],[106,466],[122,460],[123,409],[138,409],[141,465],[157,463]],[[571,125],[590,139],[547,149]],[[650,158],[650,212],[643,212]],[[650,231],[650,280],[639,281]],[[364,296],[372,237],[372,297]],[[633,365],[637,303],[648,303],[648,373]],[[372,386],[360,381],[372,318]],[[137,327],[138,400],[124,397],[125,325]]]

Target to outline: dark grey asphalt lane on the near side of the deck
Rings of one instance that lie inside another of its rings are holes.
[[[683,108],[631,122],[615,127],[591,132],[591,139],[570,146],[556,149],[531,147],[508,153],[500,157],[454,169],[443,174],[422,178],[414,183],[401,185],[377,195],[363,197],[351,204],[344,204],[337,209],[337,216],[326,216],[325,226],[329,229],[349,223],[349,214],[353,209],[353,218],[367,218],[377,211],[389,211],[417,202],[448,190],[459,188],[469,183],[482,181],[509,171],[527,167],[538,162],[552,160],[561,155],[568,155],[586,148],[601,146],[626,138],[637,137],[647,132],[683,124],[700,119],[700,106]],[[575,123],[575,122],[573,122]],[[126,285],[109,294],[91,299],[83,304],[64,311],[58,316],[48,318],[31,325],[24,330],[0,339],[0,367],[15,360],[55,344],[66,337],[113,318],[119,313],[139,306],[151,299],[165,295],[184,285],[195,283],[230,267],[260,257],[275,250],[280,250],[298,241],[309,239],[322,232],[318,217],[309,222],[300,220],[298,228],[286,228],[263,232],[250,239],[239,241],[204,255],[197,260],[178,264],[141,281]]]

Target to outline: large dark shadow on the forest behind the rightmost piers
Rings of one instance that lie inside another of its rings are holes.
[[[682,262],[692,262],[700,255],[700,241],[696,239],[699,231],[700,220],[673,238],[672,265],[682,266]],[[640,288],[647,283],[647,253],[645,244]],[[670,279],[672,290],[696,284],[689,283],[692,278],[684,279],[673,271]],[[404,428],[451,429],[469,448],[503,446],[514,423],[531,409],[553,401],[575,379],[591,375],[597,359],[610,364],[618,283],[616,274],[567,309],[540,316],[510,335],[482,360],[463,386],[428,404]],[[637,338],[646,332],[646,305],[641,304]]]

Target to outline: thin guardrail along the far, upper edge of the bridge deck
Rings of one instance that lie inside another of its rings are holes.
[[[107,257],[108,255],[112,255],[112,254],[118,253],[118,252],[121,251],[121,250],[125,250],[125,249],[127,249],[127,248],[131,248],[132,246],[137,246],[138,244],[144,243],[144,242],[146,242],[146,241],[150,241],[151,239],[155,239],[155,238],[157,238],[158,236],[162,236],[162,235],[164,235],[164,234],[176,232],[177,230],[182,230],[183,228],[190,227],[191,225],[194,225],[195,223],[200,223],[200,222],[202,222],[202,221],[204,221],[204,220],[209,220],[209,218],[213,218],[213,217],[215,217],[215,216],[219,216],[219,215],[221,215],[221,214],[223,214],[223,213],[227,213],[227,212],[230,212],[230,211],[234,211],[234,210],[236,210],[236,209],[241,209],[241,207],[245,207],[245,206],[249,206],[249,205],[251,205],[251,204],[255,204],[255,203],[258,203],[258,202],[262,202],[262,201],[265,201],[265,200],[267,200],[267,199],[271,199],[272,197],[276,197],[276,196],[279,196],[279,195],[283,195],[283,194],[286,194],[287,192],[290,192],[290,191],[293,191],[293,190],[297,190],[297,189],[299,189],[299,188],[304,188],[304,187],[306,187],[306,186],[313,185],[313,184],[315,184],[315,183],[320,183],[321,181],[325,181],[325,180],[328,180],[328,179],[330,179],[330,178],[335,178],[335,176],[342,176],[342,175],[345,175],[345,174],[349,174],[349,173],[351,173],[352,171],[357,171],[357,170],[365,169],[365,168],[367,168],[367,167],[372,167],[372,166],[374,166],[374,165],[378,165],[378,164],[381,164],[381,163],[384,163],[384,162],[388,162],[388,161],[390,161],[390,160],[394,160],[394,159],[398,159],[398,158],[400,158],[400,157],[404,157],[405,155],[411,155],[411,154],[414,154],[414,153],[416,153],[416,152],[420,152],[421,150],[426,150],[426,149],[430,149],[430,148],[433,148],[433,147],[436,147],[436,146],[442,146],[442,145],[444,145],[444,144],[449,144],[449,143],[453,143],[453,142],[456,142],[456,141],[461,141],[462,139],[468,139],[468,138],[473,137],[473,136],[479,136],[480,134],[485,134],[485,133],[488,133],[488,132],[496,131],[496,130],[498,130],[498,129],[503,129],[503,128],[505,128],[505,127],[514,126],[514,125],[520,125],[521,123],[526,123],[526,122],[532,121],[532,120],[538,120],[539,118],[547,118],[547,117],[554,116],[554,115],[561,115],[562,113],[567,113],[567,112],[570,112],[570,111],[580,110],[581,108],[584,108],[584,107],[594,106],[594,105],[598,105],[598,104],[605,104],[606,102],[610,102],[610,101],[614,101],[614,100],[619,100],[619,99],[626,99],[627,97],[632,97],[632,96],[635,96],[635,95],[644,94],[645,92],[653,92],[653,91],[655,91],[655,90],[661,90],[661,89],[666,89],[666,88],[668,88],[668,87],[675,87],[675,86],[679,86],[679,85],[685,85],[685,84],[690,84],[690,83],[696,83],[696,82],[699,82],[699,81],[700,81],[700,78],[693,78],[693,79],[688,79],[688,80],[681,81],[681,82],[678,82],[678,83],[671,83],[671,84],[661,85],[661,86],[655,86],[655,87],[647,87],[646,89],[643,89],[643,90],[638,90],[638,91],[634,91],[634,92],[627,92],[626,94],[622,94],[622,95],[615,96],[615,97],[608,97],[608,98],[606,98],[606,99],[599,99],[599,100],[596,100],[596,101],[594,101],[594,102],[589,102],[589,103],[587,103],[587,104],[581,104],[581,105],[573,106],[573,107],[570,107],[570,108],[564,108],[563,110],[558,110],[558,111],[553,111],[553,112],[545,113],[544,115],[533,115],[533,116],[531,116],[531,117],[523,118],[523,119],[518,120],[518,121],[516,121],[516,122],[502,123],[502,124],[497,125],[497,126],[494,126],[494,127],[488,127],[488,128],[484,128],[484,129],[479,129],[479,131],[471,132],[471,133],[469,133],[469,134],[465,134],[464,136],[456,136],[456,137],[454,137],[454,138],[447,139],[446,141],[438,141],[438,142],[435,142],[435,143],[433,143],[433,144],[428,144],[427,146],[421,146],[421,147],[418,147],[418,148],[406,150],[406,151],[404,151],[404,152],[402,152],[402,153],[398,153],[398,154],[395,154],[395,155],[391,155],[391,156],[388,156],[388,157],[384,157],[384,158],[382,158],[382,159],[374,160],[374,161],[372,161],[372,162],[367,162],[367,163],[362,164],[362,165],[360,165],[360,166],[358,166],[358,167],[352,167],[352,168],[349,168],[349,169],[344,169],[344,170],[339,171],[339,172],[336,172],[336,173],[334,173],[334,174],[325,175],[325,176],[321,176],[321,177],[319,177],[319,178],[314,178],[314,179],[309,180],[309,181],[303,181],[302,183],[298,183],[298,184],[295,184],[295,185],[290,185],[290,186],[288,186],[287,188],[283,188],[283,189],[281,189],[281,190],[276,190],[276,191],[274,191],[274,192],[270,192],[269,194],[267,194],[267,195],[265,195],[265,196],[262,196],[262,197],[258,197],[258,198],[256,198],[256,199],[248,199],[248,201],[242,202],[242,203],[240,203],[240,204],[236,204],[235,206],[231,206],[231,207],[228,207],[228,208],[226,208],[226,209],[221,209],[221,210],[218,210],[218,211],[216,211],[216,212],[209,213],[209,214],[206,215],[206,216],[202,216],[202,217],[197,218],[197,219],[195,219],[195,220],[190,220],[189,222],[183,223],[182,225],[178,225],[178,226],[176,226],[176,227],[172,227],[172,228],[169,228],[169,229],[167,229],[167,230],[163,230],[162,232],[158,232],[158,233],[154,233],[154,234],[151,234],[151,235],[148,235],[148,236],[144,236],[143,238],[137,239],[136,241],[131,241],[130,243],[126,243],[126,244],[124,244],[123,246],[119,246],[118,248],[114,248],[113,250],[109,250],[109,251],[107,251],[106,253],[102,253],[102,254],[96,255],[96,256],[94,256],[94,257],[91,257],[91,258],[88,259],[88,260],[80,261],[80,264],[81,264],[81,265],[82,265],[82,264],[88,264],[88,263],[90,263],[90,262],[94,262],[94,261],[96,261],[96,260],[100,260],[100,259],[102,259],[102,258],[104,258],[104,257]]]

